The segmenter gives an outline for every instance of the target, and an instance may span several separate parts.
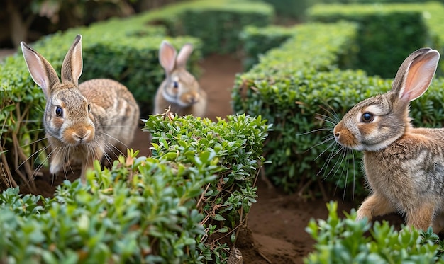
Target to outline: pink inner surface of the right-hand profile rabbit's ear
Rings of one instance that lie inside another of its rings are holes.
[[[438,67],[439,58],[439,52],[431,50],[411,62],[400,94],[401,98],[413,101],[427,91]]]

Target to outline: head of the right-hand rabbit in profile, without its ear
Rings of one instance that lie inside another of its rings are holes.
[[[404,134],[408,111],[394,107],[393,93],[367,98],[355,105],[335,126],[336,142],[348,149],[377,151]]]

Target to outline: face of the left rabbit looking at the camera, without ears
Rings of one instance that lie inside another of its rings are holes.
[[[87,99],[77,87],[55,90],[45,110],[46,131],[68,146],[94,139],[94,117]]]

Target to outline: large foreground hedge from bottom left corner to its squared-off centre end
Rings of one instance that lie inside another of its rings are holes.
[[[151,158],[129,151],[111,170],[96,163],[87,185],[65,181],[53,198],[1,193],[0,262],[226,261],[256,201],[270,125],[150,116],[145,128],[157,142]]]

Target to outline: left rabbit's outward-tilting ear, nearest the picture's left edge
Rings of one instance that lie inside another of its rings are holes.
[[[35,84],[42,88],[46,98],[50,98],[52,87],[55,84],[60,84],[57,72],[42,55],[26,45],[25,42],[20,42],[20,45],[30,76]]]

